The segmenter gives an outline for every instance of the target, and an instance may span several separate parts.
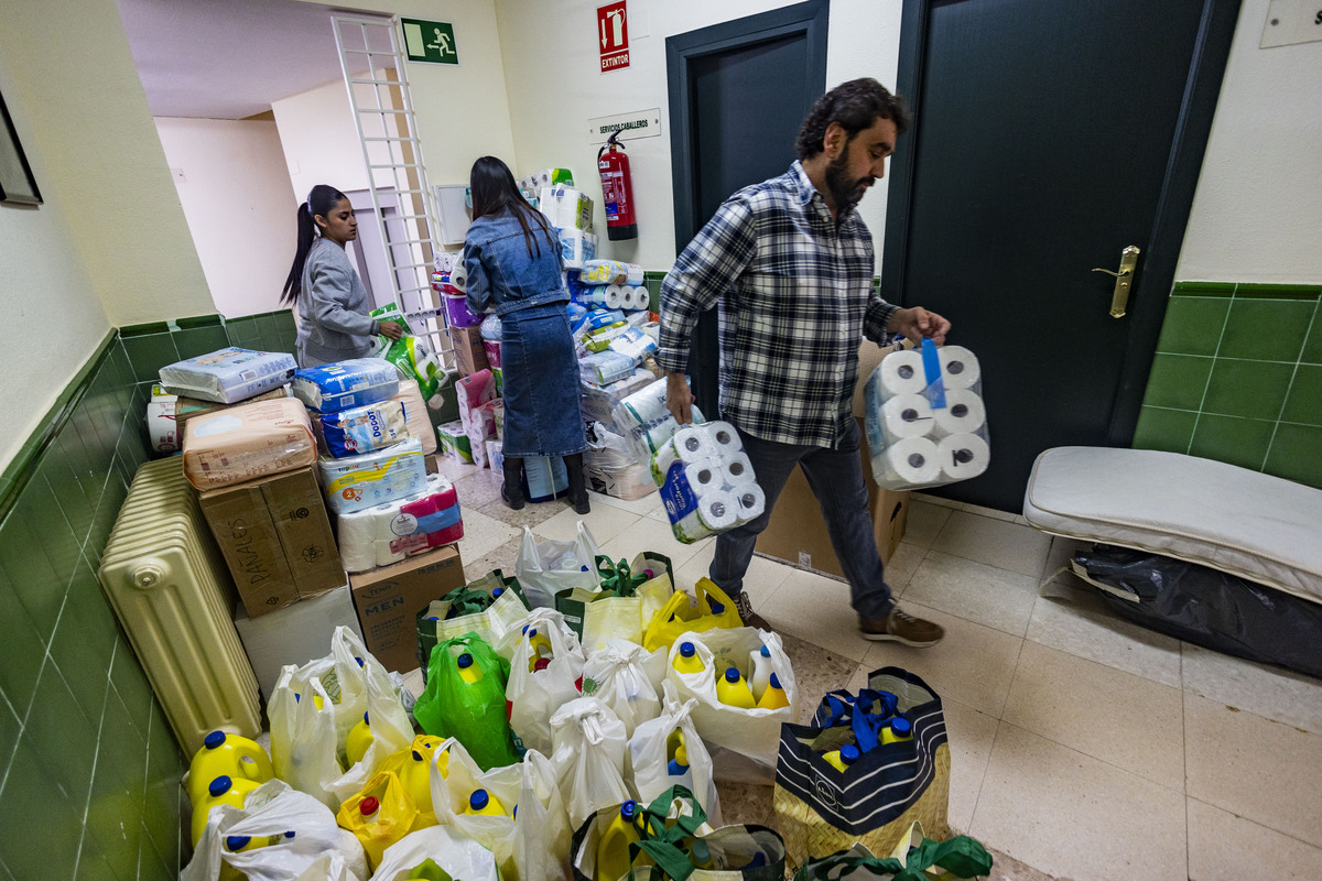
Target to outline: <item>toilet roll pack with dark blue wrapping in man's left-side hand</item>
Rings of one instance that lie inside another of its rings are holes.
[[[730,423],[681,425],[652,458],[652,479],[674,538],[685,544],[755,520],[767,507]]]

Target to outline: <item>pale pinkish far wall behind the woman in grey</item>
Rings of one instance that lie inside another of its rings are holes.
[[[279,309],[297,201],[275,123],[157,118],[156,131],[217,312]]]

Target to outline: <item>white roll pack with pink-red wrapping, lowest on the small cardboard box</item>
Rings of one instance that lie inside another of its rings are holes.
[[[366,572],[457,542],[464,522],[455,486],[442,474],[427,474],[420,493],[341,514],[336,531],[344,568]]]

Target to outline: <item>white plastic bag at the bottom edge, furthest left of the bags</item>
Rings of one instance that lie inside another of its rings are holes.
[[[295,835],[288,836],[288,832]],[[214,881],[222,860],[242,872],[249,881],[291,881],[324,857],[328,881],[365,881],[368,863],[362,845],[353,835],[342,835],[334,814],[307,793],[284,781],[267,781],[249,793],[243,808],[222,804],[212,811],[193,859],[180,873],[180,881]],[[225,839],[242,835],[271,837],[266,847],[227,851]]]

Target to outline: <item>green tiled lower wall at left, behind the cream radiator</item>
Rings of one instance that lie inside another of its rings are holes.
[[[124,328],[0,477],[0,881],[178,877],[185,757],[97,567],[160,367],[293,333],[288,312]]]

